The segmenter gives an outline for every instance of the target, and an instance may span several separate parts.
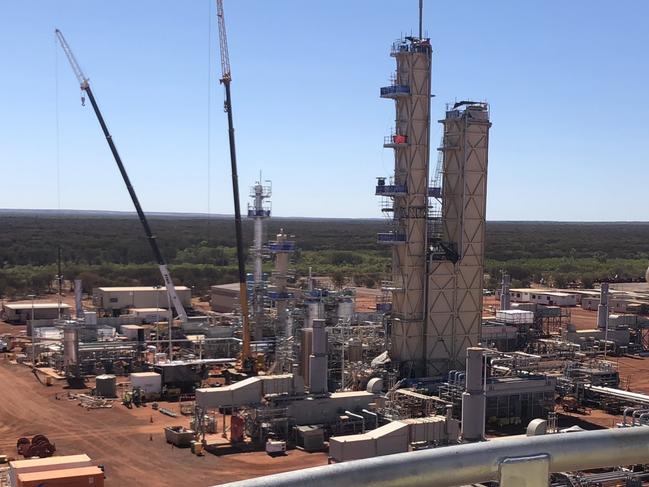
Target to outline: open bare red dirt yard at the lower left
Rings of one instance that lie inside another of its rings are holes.
[[[327,463],[324,453],[291,450],[271,458],[264,452],[204,457],[189,449],[171,448],[163,427],[188,426],[188,419],[170,418],[150,407],[89,410],[64,397],[61,384],[41,385],[30,370],[0,358],[0,454],[16,456],[21,436],[44,434],[57,455],[86,453],[106,468],[106,486],[209,486]],[[177,405],[167,405],[177,410]],[[153,418],[153,423],[151,423]],[[219,425],[220,428],[220,425]],[[151,440],[150,440],[151,438]]]

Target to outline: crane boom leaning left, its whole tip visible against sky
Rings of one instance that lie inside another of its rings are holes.
[[[77,80],[79,81],[81,90],[88,95],[88,99],[90,100],[90,104],[92,105],[92,108],[95,111],[95,115],[97,116],[97,120],[99,121],[99,125],[101,126],[101,130],[104,133],[104,137],[106,137],[106,142],[108,142],[108,147],[110,147],[110,151],[112,152],[113,158],[117,163],[117,167],[119,168],[119,172],[122,175],[122,179],[126,184],[126,189],[128,190],[128,193],[131,196],[131,200],[133,201],[133,205],[135,206],[135,211],[137,212],[137,216],[139,217],[140,223],[144,228],[144,233],[146,234],[149,245],[151,246],[151,250],[153,251],[153,255],[155,256],[156,263],[160,268],[160,274],[162,274],[162,279],[164,280],[165,287],[167,288],[167,294],[169,295],[171,304],[176,310],[176,313],[178,314],[178,318],[184,323],[187,321],[187,312],[185,311],[185,308],[180,302],[178,293],[176,293],[176,287],[174,286],[174,283],[171,280],[171,274],[169,273],[169,269],[167,268],[167,263],[164,260],[164,257],[162,256],[162,252],[160,251],[160,247],[158,246],[156,237],[155,235],[153,235],[153,232],[151,231],[151,227],[149,226],[149,222],[146,219],[146,215],[142,210],[142,206],[140,205],[140,201],[137,197],[137,194],[135,194],[135,190],[133,189],[131,180],[128,177],[128,174],[126,173],[126,168],[122,163],[122,158],[117,152],[117,147],[115,147],[115,143],[113,142],[113,137],[108,131],[108,126],[104,121],[104,117],[102,116],[101,111],[99,110],[99,105],[97,105],[95,96],[92,93],[89,80],[83,74],[83,71],[79,66],[79,63],[74,57],[74,54],[72,53],[72,50],[70,49],[70,46],[66,42],[65,37],[63,37],[61,31],[59,29],[56,29],[54,32],[56,34],[57,39],[59,40],[59,43],[61,44],[61,47],[63,48],[63,51],[65,52],[66,57],[68,58],[68,61],[70,62],[72,71],[74,71],[74,74],[77,77]]]

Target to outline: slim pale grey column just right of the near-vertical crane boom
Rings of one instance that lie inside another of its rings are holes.
[[[270,183],[269,181],[266,181]],[[252,314],[254,325],[252,329],[253,340],[261,340],[264,333],[264,295],[265,283],[262,274],[263,262],[263,240],[264,240],[264,220],[270,218],[270,202],[268,201],[272,194],[270,184],[264,186],[261,183],[261,177],[255,185],[250,188],[250,197],[253,200],[252,205],[248,204],[248,217],[254,221],[254,240],[252,246],[252,258],[254,262],[253,271],[253,289],[252,289]]]

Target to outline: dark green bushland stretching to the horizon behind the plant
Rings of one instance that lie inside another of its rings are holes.
[[[143,285],[160,281],[157,266],[134,216],[70,214],[0,215],[0,295],[14,297],[51,288],[61,248],[62,273],[96,285]],[[237,278],[231,218],[151,217],[174,280],[204,293],[211,284]],[[376,243],[381,220],[278,219],[294,235],[296,277],[317,275],[374,287],[390,278],[389,247]],[[252,242],[252,222],[244,223]],[[485,272],[494,287],[502,270],[516,286],[533,282],[590,287],[600,280],[638,280],[649,262],[647,223],[488,222]],[[271,263],[265,264],[270,271]]]

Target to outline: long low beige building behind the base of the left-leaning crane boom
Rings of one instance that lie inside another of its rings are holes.
[[[192,292],[176,286],[182,305],[191,307]],[[162,286],[98,287],[93,289],[92,304],[112,314],[122,314],[131,308],[169,308],[167,289]]]

